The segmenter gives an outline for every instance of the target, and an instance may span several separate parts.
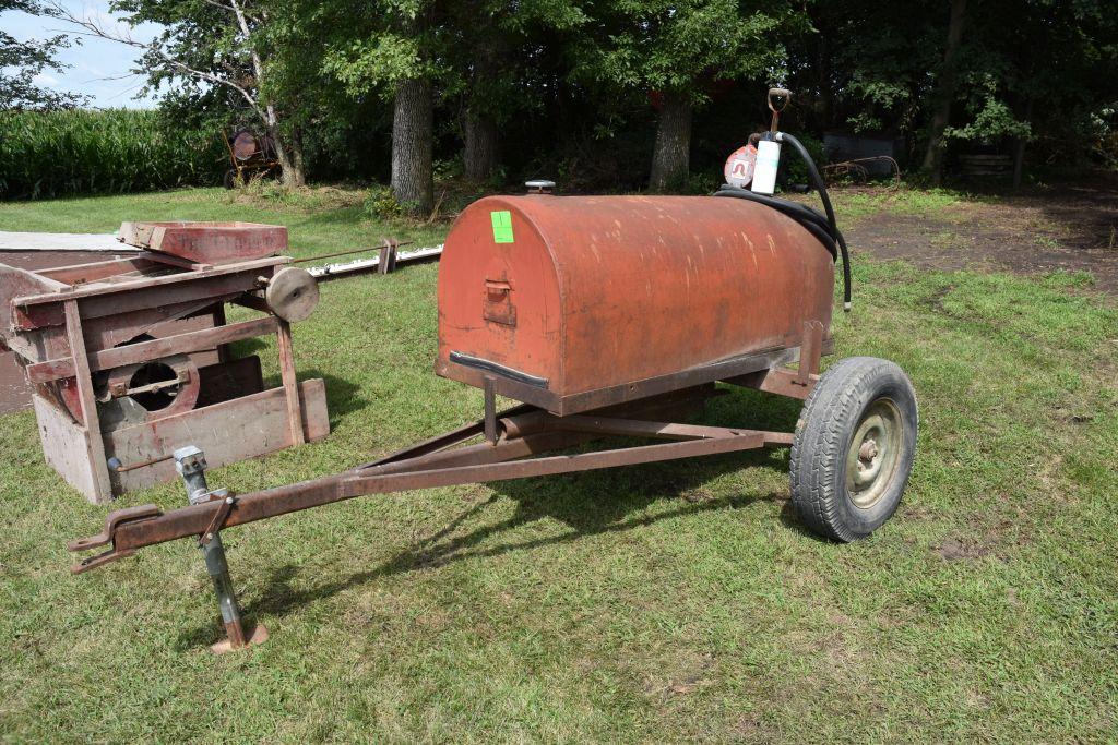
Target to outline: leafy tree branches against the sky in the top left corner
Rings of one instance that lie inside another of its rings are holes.
[[[34,0],[0,0],[0,13],[7,11],[40,16],[44,8]],[[69,41],[61,35],[19,41],[0,29],[0,111],[73,108],[84,104],[88,99],[86,96],[50,90],[35,82],[45,70],[57,71],[65,67],[55,55],[67,46]]]

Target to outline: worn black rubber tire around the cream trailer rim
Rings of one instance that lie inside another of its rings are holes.
[[[877,502],[860,507],[847,485],[847,453],[871,407],[879,410],[889,402],[900,420],[897,459]],[[847,357],[832,365],[804,402],[792,445],[792,502],[800,519],[843,543],[878,529],[897,512],[908,485],[918,423],[916,392],[900,366],[877,357]]]

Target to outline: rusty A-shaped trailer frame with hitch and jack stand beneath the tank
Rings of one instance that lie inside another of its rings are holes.
[[[138,550],[196,537],[214,581],[227,638],[215,652],[244,648],[267,638],[258,625],[246,634],[234,595],[220,533],[226,528],[372,494],[391,494],[464,484],[501,481],[615,468],[698,456],[789,447],[794,433],[674,423],[707,399],[722,381],[776,395],[806,399],[818,381],[819,357],[830,354],[819,322],[805,324],[800,346],[774,348],[672,375],[641,381],[624,390],[604,389],[578,403],[582,413],[557,416],[529,401],[496,410],[498,393],[519,398],[522,383],[499,372],[483,376],[484,417],[349,471],[253,494],[234,496],[206,484],[205,455],[193,447],[176,451],[190,506],[164,513],[143,505],[111,513],[104,529],[68,544],[74,552],[110,546],[72,567],[77,574],[102,567]],[[798,361],[795,369],[786,365]],[[542,402],[541,402],[542,403]],[[591,405],[593,404],[593,405]],[[563,407],[560,407],[563,408]],[[666,440],[656,445],[546,455],[606,436]],[[481,441],[466,445],[471,440]]]

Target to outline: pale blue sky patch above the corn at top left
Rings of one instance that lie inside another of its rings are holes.
[[[103,28],[129,31],[141,41],[153,38],[159,29],[152,23],[130,29],[110,12],[107,0],[64,0],[63,4],[75,16],[96,19]],[[42,39],[74,31],[73,27],[54,18],[16,11],[0,13],[0,26],[19,40]],[[80,44],[77,42],[78,38]],[[92,98],[91,105],[98,107],[148,108],[154,105],[150,98],[136,99],[144,78],[131,75],[130,70],[135,66],[139,49],[91,37],[74,36],[72,39],[74,41],[70,48],[58,54],[58,61],[69,67],[45,70],[37,80],[39,85],[56,90],[84,93]]]

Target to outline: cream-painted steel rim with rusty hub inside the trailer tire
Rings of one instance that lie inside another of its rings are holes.
[[[878,399],[862,413],[846,450],[846,494],[859,509],[870,509],[889,490],[901,433],[901,412],[891,399]]]

